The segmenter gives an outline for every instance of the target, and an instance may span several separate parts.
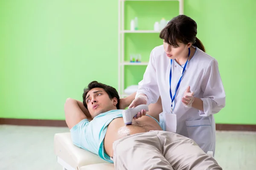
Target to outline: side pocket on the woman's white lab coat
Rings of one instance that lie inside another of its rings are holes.
[[[205,153],[212,151],[214,139],[209,119],[186,121],[188,137],[193,139]]]

